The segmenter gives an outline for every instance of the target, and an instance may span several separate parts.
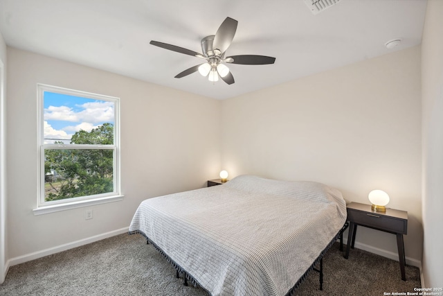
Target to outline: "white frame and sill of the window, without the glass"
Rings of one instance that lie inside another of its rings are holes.
[[[93,98],[100,101],[110,101],[114,103],[114,145],[84,145],[84,144],[45,144],[44,143],[44,92],[55,92],[57,94],[66,94],[70,96],[80,96],[84,98]],[[74,89],[66,89],[63,87],[55,87],[52,85],[37,84],[37,104],[38,104],[38,184],[37,184],[37,208],[33,210],[35,215],[48,214],[54,211],[64,211],[67,209],[75,209],[78,207],[87,207],[94,204],[102,204],[106,202],[115,202],[123,200],[120,193],[120,98],[114,96],[105,96],[101,94],[92,94]],[[45,149],[110,149],[114,150],[114,168],[113,168],[113,192],[102,193],[97,195],[87,195],[77,198],[66,198],[63,200],[52,200],[46,202],[45,198],[45,171],[44,171],[44,151]]]

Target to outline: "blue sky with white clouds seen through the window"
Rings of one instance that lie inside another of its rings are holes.
[[[44,92],[43,104],[45,139],[71,139],[80,129],[89,132],[103,123],[114,123],[114,103],[111,101]]]

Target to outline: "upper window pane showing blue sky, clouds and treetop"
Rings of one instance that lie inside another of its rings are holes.
[[[114,144],[113,101],[47,91],[43,96],[44,144]]]

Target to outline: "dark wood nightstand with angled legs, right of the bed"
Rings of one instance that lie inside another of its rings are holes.
[[[372,211],[370,204],[360,204],[351,202],[347,204],[347,220],[350,222],[349,234],[347,236],[347,246],[345,259],[349,257],[350,247],[354,249],[355,234],[357,225],[370,227],[397,235],[397,248],[399,250],[399,261],[401,279],[406,281],[404,266],[404,241],[403,234],[408,232],[408,212],[396,209],[386,209],[386,212]]]

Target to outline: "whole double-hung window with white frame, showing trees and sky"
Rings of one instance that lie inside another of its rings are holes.
[[[121,200],[119,99],[48,85],[37,85],[37,93],[38,208]]]

